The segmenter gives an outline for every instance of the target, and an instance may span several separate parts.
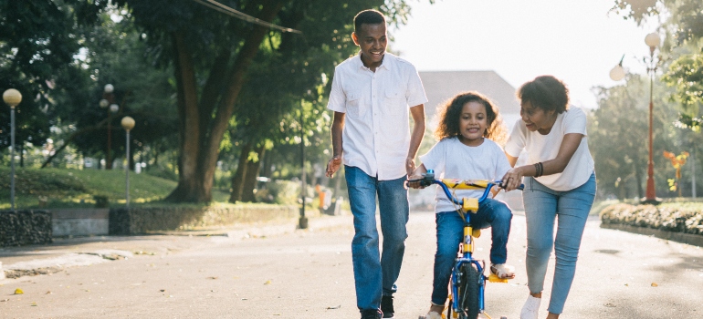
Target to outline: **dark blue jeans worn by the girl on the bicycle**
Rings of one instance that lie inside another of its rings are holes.
[[[478,205],[476,214],[470,215],[474,228],[491,227],[490,262],[505,263],[508,259],[508,235],[512,212],[502,201],[486,199]],[[432,304],[445,304],[449,279],[456,261],[459,244],[464,242],[464,219],[456,211],[438,212],[437,252],[435,253],[435,279],[432,289]]]

